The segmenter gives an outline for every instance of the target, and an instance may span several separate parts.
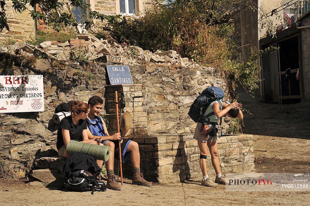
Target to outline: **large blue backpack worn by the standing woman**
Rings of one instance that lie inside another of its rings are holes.
[[[200,122],[208,106],[214,101],[218,101],[221,106],[222,102],[219,100],[223,98],[224,91],[221,88],[216,86],[209,86],[205,90],[203,90],[201,94],[195,99],[195,101],[189,108],[188,115],[192,118],[194,122]],[[212,115],[214,115],[214,112],[212,112],[208,116]]]

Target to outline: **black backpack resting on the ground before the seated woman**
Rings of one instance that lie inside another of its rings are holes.
[[[86,192],[106,191],[104,182],[96,180],[100,167],[90,155],[76,152],[70,156],[58,169],[58,174],[64,179],[64,187],[69,191]]]

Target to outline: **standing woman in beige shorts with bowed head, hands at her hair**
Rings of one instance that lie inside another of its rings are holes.
[[[218,129],[215,127],[215,125],[217,125],[219,119],[225,115],[231,118],[237,117],[239,119],[242,119],[243,114],[240,111],[239,107],[242,107],[242,104],[239,104],[237,102],[228,104],[224,102],[222,99],[214,101],[207,107],[206,112],[204,113],[201,121],[197,123],[193,138],[197,140],[200,149],[200,168],[203,175],[201,185],[203,186],[216,187],[218,186],[218,184],[226,183],[225,177],[224,175],[221,174],[219,166],[218,144],[217,144]],[[203,123],[204,126],[201,124],[201,122]],[[209,131],[208,136],[205,136],[204,134],[200,133],[204,128],[209,130],[212,129],[211,131]],[[210,179],[207,173],[206,158],[208,148],[211,154],[211,162],[216,173],[215,182],[213,182]]]

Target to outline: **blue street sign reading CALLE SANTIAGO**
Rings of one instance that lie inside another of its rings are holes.
[[[128,66],[107,65],[108,76],[112,85],[133,84]]]

